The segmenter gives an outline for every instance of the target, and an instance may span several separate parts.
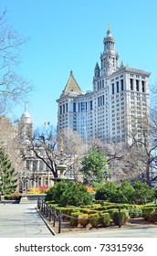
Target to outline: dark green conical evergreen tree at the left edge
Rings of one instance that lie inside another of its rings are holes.
[[[17,177],[15,169],[2,148],[0,148],[1,192],[6,195],[16,191]]]

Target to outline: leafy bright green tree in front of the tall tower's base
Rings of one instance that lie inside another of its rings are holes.
[[[102,182],[105,178],[105,168],[108,165],[106,156],[94,147],[82,160],[80,172],[84,175],[84,183]]]

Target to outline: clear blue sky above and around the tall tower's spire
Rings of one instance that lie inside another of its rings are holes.
[[[34,86],[28,112],[35,127],[57,124],[56,100],[70,69],[82,91],[92,89],[108,23],[120,61],[152,72],[151,84],[157,80],[156,0],[1,0],[0,6],[7,7],[8,23],[30,38],[19,71]],[[21,104],[12,115],[23,112]]]

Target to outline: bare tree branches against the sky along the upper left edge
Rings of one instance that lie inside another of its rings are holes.
[[[0,115],[19,101],[26,101],[31,90],[28,81],[17,73],[20,50],[26,39],[20,37],[6,20],[6,10],[0,10]]]

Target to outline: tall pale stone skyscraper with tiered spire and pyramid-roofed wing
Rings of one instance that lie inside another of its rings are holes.
[[[70,128],[85,141],[98,137],[104,142],[129,143],[138,131],[138,120],[149,117],[149,72],[132,69],[115,50],[108,26],[100,54],[100,67],[94,69],[93,89],[83,92],[70,72],[58,102],[58,131]],[[137,133],[137,136],[141,136]]]

